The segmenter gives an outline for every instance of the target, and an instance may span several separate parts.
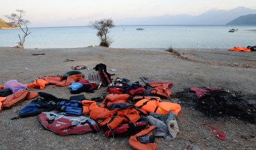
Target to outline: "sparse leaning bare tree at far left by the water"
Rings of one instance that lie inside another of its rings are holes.
[[[22,19],[22,17],[24,17],[24,15],[26,13],[24,10],[16,10],[16,11],[18,11],[19,13],[18,14],[12,13],[11,15],[4,15],[4,17],[9,19],[11,21],[10,23],[13,24],[13,26],[20,27],[20,29],[24,33],[24,36],[22,36],[22,38],[20,38],[20,34],[19,34],[20,41],[17,42],[17,43],[19,43],[19,45],[17,45],[17,47],[19,47],[20,49],[24,49],[25,38],[26,38],[26,36],[28,36],[30,34],[30,32],[28,32],[28,27],[27,27],[30,22],[29,22],[29,20]],[[22,26],[26,27],[26,31],[22,28]]]

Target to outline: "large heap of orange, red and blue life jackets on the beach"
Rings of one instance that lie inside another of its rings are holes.
[[[104,70],[102,67],[100,69]],[[74,92],[74,89],[81,87],[77,88],[80,84],[74,83],[91,84],[83,79],[83,75],[76,74],[68,76],[66,80],[63,80],[62,76],[35,79],[27,87],[44,89],[45,85],[54,84],[70,86]],[[6,97],[0,97],[0,107],[12,107],[21,100],[40,96],[20,110],[19,116],[12,119],[37,116],[45,128],[58,135],[82,134],[88,131],[95,133],[101,127],[105,130],[106,137],[131,136],[129,144],[134,149],[156,149],[157,144],[154,142],[154,137],[161,136],[168,141],[175,139],[179,132],[179,127],[173,116],[179,114],[180,105],[161,101],[161,98],[170,99],[172,86],[172,82],[148,82],[146,86],[141,86],[139,82],[124,83],[123,85],[119,83],[116,86],[112,84],[107,89],[111,93],[109,92],[99,100],[95,98],[88,100],[83,94],[70,96],[69,100],[65,100],[49,93],[22,90]],[[93,86],[93,89],[97,89],[97,86]],[[83,90],[81,89],[81,91]],[[131,105],[127,105],[129,100],[132,101]],[[150,114],[152,117],[146,117]],[[162,119],[156,116],[162,116]]]

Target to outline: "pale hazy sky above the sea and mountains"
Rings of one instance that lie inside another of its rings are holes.
[[[0,0],[0,18],[26,11],[29,27],[88,26],[92,20],[151,17],[164,14],[200,15],[238,6],[256,9],[256,0]]]

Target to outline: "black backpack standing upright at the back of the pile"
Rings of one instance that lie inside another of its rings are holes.
[[[107,71],[106,64],[97,64],[95,66],[95,71],[99,71],[100,82],[102,82],[102,86],[107,87],[111,83],[111,75]]]

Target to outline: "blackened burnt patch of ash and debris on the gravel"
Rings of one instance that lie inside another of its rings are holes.
[[[221,89],[218,92],[209,91],[202,98],[198,98],[190,89],[184,89],[173,93],[172,98],[179,99],[182,107],[193,108],[203,112],[205,116],[236,118],[247,123],[256,123],[256,103],[252,101],[255,95]]]

